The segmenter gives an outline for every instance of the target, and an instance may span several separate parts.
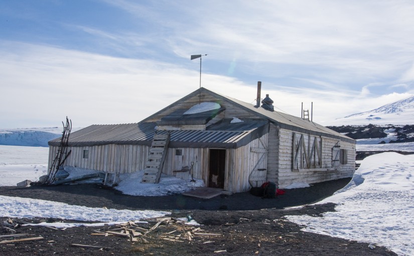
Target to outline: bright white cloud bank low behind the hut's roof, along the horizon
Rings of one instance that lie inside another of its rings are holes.
[[[76,126],[137,122],[199,85],[198,70],[165,62],[16,42],[2,41],[0,46],[4,56],[0,60],[2,93],[7,95],[0,102],[4,127],[13,123],[13,127],[23,127],[24,123],[45,126],[45,122],[56,126],[66,115]],[[255,84],[234,77],[203,74],[202,85],[250,103],[256,96]],[[308,108],[314,102],[314,120],[321,123],[378,107],[378,97],[357,99],[355,92],[345,89],[295,88],[263,82],[262,93],[269,93],[277,108],[294,115],[300,115],[301,102]],[[384,96],[380,102],[405,96]]]

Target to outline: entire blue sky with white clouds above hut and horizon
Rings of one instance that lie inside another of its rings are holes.
[[[0,128],[137,122],[199,86],[314,121],[414,94],[412,1],[2,1]]]

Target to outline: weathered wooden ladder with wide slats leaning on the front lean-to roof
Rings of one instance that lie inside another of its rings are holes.
[[[141,183],[159,183],[163,171],[165,157],[167,155],[170,133],[154,135],[153,143],[148,152],[145,164],[144,176]]]

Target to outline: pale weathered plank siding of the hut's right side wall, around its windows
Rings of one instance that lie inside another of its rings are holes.
[[[322,167],[310,168],[305,167],[296,170],[293,165],[293,140],[294,132],[286,129],[280,129],[280,148],[279,148],[279,187],[284,188],[293,182],[317,183],[328,180],[352,177],[355,172],[355,144],[339,141],[328,137],[320,137],[318,142],[322,141]],[[301,135],[296,133],[296,135]],[[298,138],[298,137],[296,137]],[[305,145],[312,145],[315,136],[304,134]],[[309,139],[311,141],[309,141]],[[332,148],[340,145],[341,149],[348,150],[348,164],[332,166]]]

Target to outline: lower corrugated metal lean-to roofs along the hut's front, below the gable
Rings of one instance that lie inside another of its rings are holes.
[[[170,131],[171,148],[238,148],[248,144],[251,140],[261,137],[268,132],[266,121],[246,122],[244,130],[242,125],[236,123],[231,131],[217,130],[185,130]],[[150,146],[154,134],[155,122],[140,122],[127,124],[91,125],[69,136],[68,146],[95,146],[106,144],[128,144]],[[216,128],[220,125],[216,125]],[[214,128],[214,127],[213,127]],[[159,131],[166,134],[168,131]],[[58,146],[60,139],[49,142],[50,146]]]

